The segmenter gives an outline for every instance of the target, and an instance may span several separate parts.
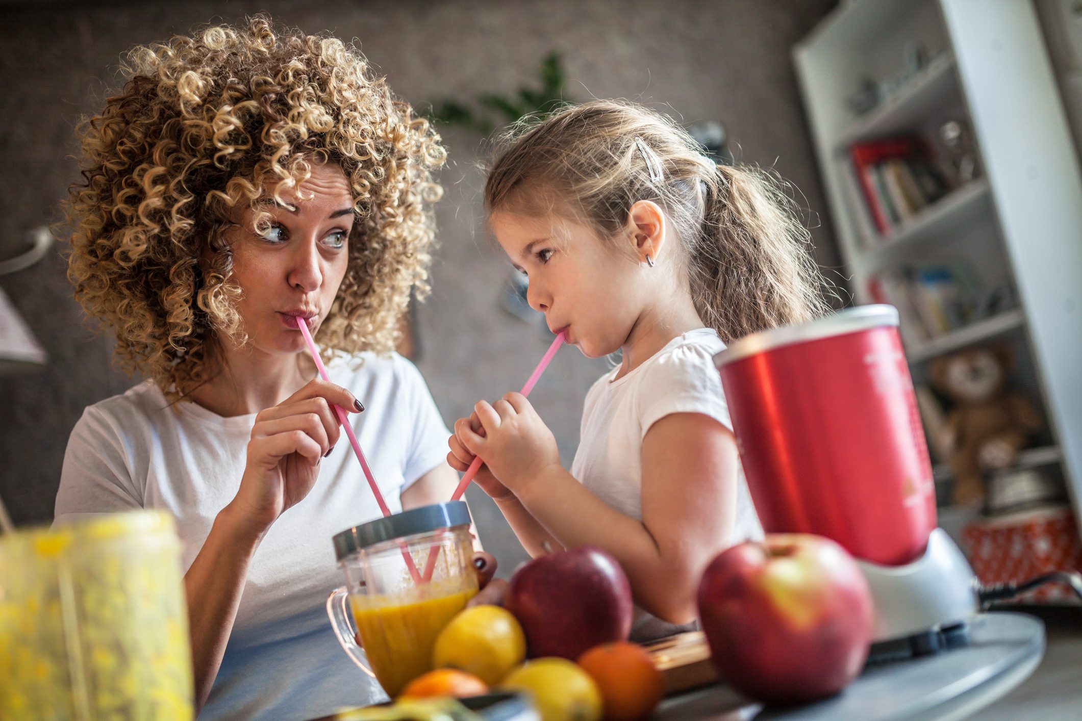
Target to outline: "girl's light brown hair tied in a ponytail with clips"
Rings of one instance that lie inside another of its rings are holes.
[[[502,137],[485,186],[489,212],[539,215],[555,192],[612,239],[638,200],[669,216],[691,299],[726,343],[826,313],[829,291],[786,184],[751,165],[718,165],[671,118],[592,101],[526,118]]]

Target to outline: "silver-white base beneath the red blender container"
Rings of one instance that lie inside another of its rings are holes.
[[[874,604],[872,649],[923,655],[958,642],[979,609],[977,580],[961,549],[942,529],[928,534],[924,555],[905,565],[857,560]]]

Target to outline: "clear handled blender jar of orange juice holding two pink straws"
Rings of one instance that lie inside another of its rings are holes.
[[[346,586],[327,601],[331,624],[354,663],[395,696],[432,670],[436,637],[477,593],[470,511],[457,500],[395,513],[339,533],[334,548]]]

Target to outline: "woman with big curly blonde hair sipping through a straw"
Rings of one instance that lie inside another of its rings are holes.
[[[391,352],[427,290],[444,148],[359,52],[264,17],[136,48],[124,74],[81,130],[69,276],[147,380],[83,413],[56,517],[175,516],[200,718],[381,700],[322,610],[331,536],[380,516],[330,406],[392,511],[450,496],[448,431]]]

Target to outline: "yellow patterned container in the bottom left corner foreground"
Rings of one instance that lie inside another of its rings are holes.
[[[0,536],[0,719],[192,719],[180,550],[159,511]]]

